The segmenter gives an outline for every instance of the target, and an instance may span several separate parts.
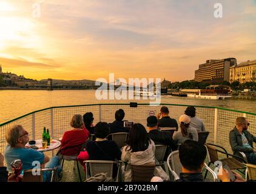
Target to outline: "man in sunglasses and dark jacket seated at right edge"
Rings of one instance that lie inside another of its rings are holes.
[[[256,164],[256,149],[252,145],[256,137],[248,132],[248,127],[248,120],[239,116],[234,129],[229,132],[229,142],[234,155],[241,156],[239,152],[243,152],[249,163]]]

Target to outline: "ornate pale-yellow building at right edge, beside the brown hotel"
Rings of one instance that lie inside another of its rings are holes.
[[[230,82],[256,82],[256,60],[241,62],[230,68]]]

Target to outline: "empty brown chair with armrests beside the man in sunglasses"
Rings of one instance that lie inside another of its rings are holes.
[[[238,161],[238,159],[244,161],[243,158],[241,158],[240,156],[227,153],[224,147],[217,146],[215,144],[206,144],[206,148],[207,148],[207,155],[209,160],[208,166],[210,166],[211,164],[214,164],[215,161],[220,161],[222,162],[223,166],[226,164],[227,166],[229,166],[231,170],[238,170],[244,174],[244,172],[241,171],[241,169],[245,169],[246,167],[242,162]],[[218,150],[217,148],[222,150]],[[223,153],[223,155],[226,155],[226,158],[220,159],[218,157],[218,153]],[[229,156],[232,156],[233,158],[229,158]],[[244,161],[244,163],[246,163],[246,161]],[[207,172],[204,178],[206,178],[206,176],[207,176]]]

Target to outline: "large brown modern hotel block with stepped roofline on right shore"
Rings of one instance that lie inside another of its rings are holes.
[[[237,59],[210,59],[200,64],[195,70],[195,81],[223,82],[229,81],[229,68],[237,64]]]

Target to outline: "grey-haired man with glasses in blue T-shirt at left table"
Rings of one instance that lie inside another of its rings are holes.
[[[53,156],[51,159],[44,153],[37,150],[25,147],[29,142],[29,133],[25,131],[22,125],[14,125],[7,130],[5,139],[8,145],[5,147],[4,155],[7,163],[7,169],[12,172],[11,162],[15,159],[21,159],[23,170],[34,169],[33,161],[39,161],[41,169],[53,169],[58,166],[58,175],[61,176],[61,166],[59,165],[58,156]],[[52,172],[43,172],[43,181],[48,182],[51,179]]]

